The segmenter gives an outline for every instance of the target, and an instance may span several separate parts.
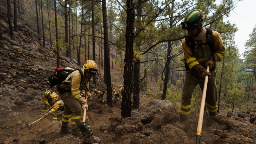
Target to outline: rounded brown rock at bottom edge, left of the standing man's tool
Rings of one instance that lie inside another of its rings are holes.
[[[161,144],[189,144],[186,133],[171,124],[161,128]]]

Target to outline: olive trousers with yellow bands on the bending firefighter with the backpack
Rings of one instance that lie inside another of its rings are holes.
[[[77,134],[78,131],[75,127],[75,123],[76,120],[81,120],[82,109],[70,92],[65,92],[63,94],[59,93],[59,96],[64,102],[64,112],[61,120],[62,126],[68,126],[71,117],[71,133]]]

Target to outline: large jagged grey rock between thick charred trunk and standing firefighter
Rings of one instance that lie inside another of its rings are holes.
[[[153,100],[147,106],[141,106],[138,110],[133,110],[131,116],[141,119],[142,124],[149,124],[155,118],[155,114],[172,107],[173,104],[168,100]]]

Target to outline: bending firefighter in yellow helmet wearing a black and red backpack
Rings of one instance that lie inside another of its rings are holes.
[[[85,84],[87,83],[88,79],[96,74],[98,74],[98,67],[96,63],[93,60],[87,60],[83,68],[72,72],[61,84],[57,86],[58,92],[60,93],[60,98],[64,102],[64,112],[62,116],[60,134],[70,133],[68,123],[71,117],[71,133],[75,137],[80,136],[75,127],[75,123],[76,120],[81,120],[82,109],[88,110],[87,101],[85,97],[80,95],[80,90],[87,89]],[[85,95],[90,95],[88,89],[86,90]]]

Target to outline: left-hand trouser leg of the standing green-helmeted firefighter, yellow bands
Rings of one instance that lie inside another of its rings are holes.
[[[179,111],[180,117],[186,117],[188,114],[190,114],[192,93],[194,92],[196,85],[199,83],[199,78],[201,79],[201,76],[194,70],[189,69],[186,71],[183,84],[181,108]]]

